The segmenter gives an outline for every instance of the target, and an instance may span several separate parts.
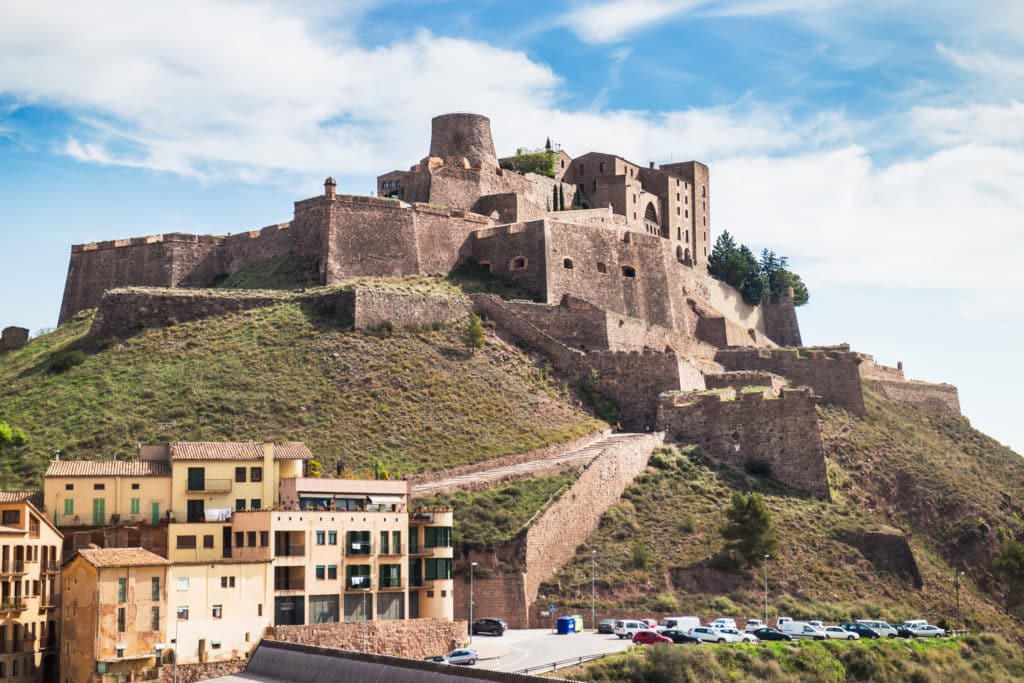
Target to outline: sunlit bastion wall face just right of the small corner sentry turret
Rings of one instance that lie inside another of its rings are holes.
[[[395,200],[338,196],[321,263],[325,285],[420,271],[415,212]]]

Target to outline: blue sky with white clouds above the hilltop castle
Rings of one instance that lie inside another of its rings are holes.
[[[0,0],[0,327],[55,325],[72,244],[369,194],[471,111],[500,154],[709,163],[714,229],[808,283],[805,342],[1024,451],[1024,3],[310,4]]]

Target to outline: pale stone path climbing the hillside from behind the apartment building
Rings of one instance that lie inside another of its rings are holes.
[[[645,434],[635,433],[608,434],[597,441],[580,446],[568,453],[542,457],[514,465],[504,465],[490,470],[459,474],[438,481],[413,484],[413,496],[431,496],[433,494],[460,489],[483,490],[499,486],[506,481],[552,474],[566,467],[586,465],[612,445],[636,440],[644,436]]]

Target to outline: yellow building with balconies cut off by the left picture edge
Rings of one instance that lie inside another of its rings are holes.
[[[0,680],[55,681],[62,537],[39,495],[0,492]]]

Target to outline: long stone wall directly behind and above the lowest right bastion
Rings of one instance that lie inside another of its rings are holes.
[[[728,371],[761,370],[808,386],[823,399],[856,415],[864,414],[859,366],[863,356],[848,351],[809,349],[720,349],[715,359]]]

